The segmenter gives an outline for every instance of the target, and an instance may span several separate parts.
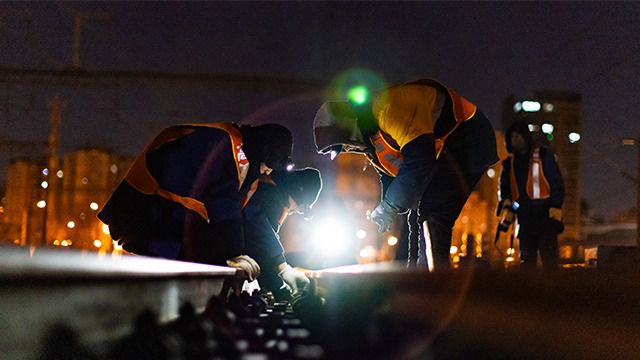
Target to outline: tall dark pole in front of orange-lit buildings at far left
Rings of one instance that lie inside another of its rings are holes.
[[[42,215],[42,240],[41,246],[47,246],[47,217],[49,212],[51,212],[55,217],[55,208],[53,203],[56,201],[51,201],[51,193],[57,192],[59,187],[57,186],[57,176],[55,173],[58,171],[58,131],[60,129],[60,124],[62,123],[62,111],[64,110],[65,104],[59,97],[54,97],[53,100],[49,102],[49,109],[51,111],[50,115],[50,123],[51,130],[49,132],[49,146],[47,149],[47,183],[49,186],[44,189],[44,201],[45,207]]]

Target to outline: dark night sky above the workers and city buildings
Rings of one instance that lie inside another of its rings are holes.
[[[3,2],[0,67],[69,68],[74,10],[108,13],[83,26],[81,68],[89,71],[313,84],[353,68],[389,84],[434,77],[476,103],[497,128],[510,94],[581,93],[582,197],[608,218],[635,205],[636,187],[617,168],[636,174],[637,149],[620,139],[640,135],[640,3]],[[45,140],[47,102],[60,95],[67,103],[61,152],[97,145],[134,155],[174,123],[276,121],[293,129],[298,163],[326,165],[311,140],[321,91],[235,85],[0,82],[0,139]],[[0,181],[18,155],[0,154]]]

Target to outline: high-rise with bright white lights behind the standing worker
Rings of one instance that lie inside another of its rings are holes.
[[[557,156],[564,179],[562,214],[565,230],[560,235],[560,258],[579,259],[580,243],[580,133],[582,101],[573,92],[537,91],[528,99],[505,101],[503,126],[524,120],[539,144],[549,146]]]

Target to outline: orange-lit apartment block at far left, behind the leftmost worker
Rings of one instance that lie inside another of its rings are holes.
[[[96,214],[124,177],[132,159],[88,147],[45,161],[13,160],[4,196],[6,240],[19,245],[111,250],[108,229]]]

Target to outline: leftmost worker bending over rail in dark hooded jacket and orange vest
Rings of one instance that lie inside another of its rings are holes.
[[[247,255],[243,208],[260,174],[283,169],[291,132],[277,124],[177,125],[136,158],[98,217],[129,252],[241,268]]]

